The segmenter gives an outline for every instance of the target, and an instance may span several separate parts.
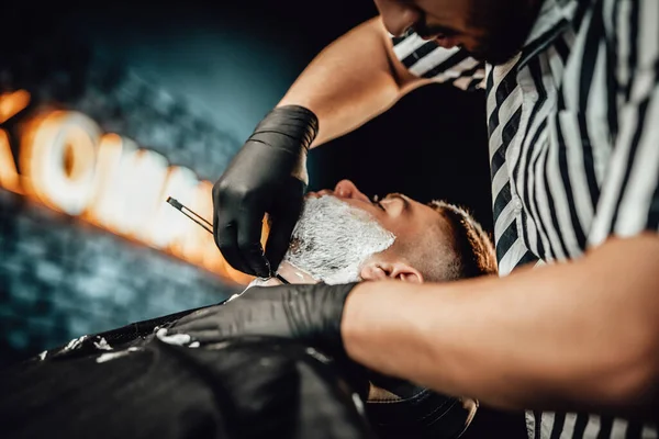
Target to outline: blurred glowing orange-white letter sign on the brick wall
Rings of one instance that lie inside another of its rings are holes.
[[[30,102],[20,90],[0,95],[0,123]],[[213,237],[165,203],[171,195],[212,218],[212,183],[133,140],[103,133],[89,116],[48,111],[19,133],[18,171],[9,134],[0,128],[0,188],[76,216],[132,241],[245,284],[250,277],[222,258]],[[264,239],[267,235],[264,222]]]

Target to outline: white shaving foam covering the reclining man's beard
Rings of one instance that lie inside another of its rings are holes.
[[[369,213],[332,195],[311,198],[283,260],[327,284],[356,282],[368,258],[394,239]]]

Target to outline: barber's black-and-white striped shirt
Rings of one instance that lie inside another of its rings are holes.
[[[521,54],[491,67],[415,34],[415,75],[487,90],[501,275],[659,227],[659,0],[545,0]],[[657,438],[588,414],[526,415],[529,438]]]

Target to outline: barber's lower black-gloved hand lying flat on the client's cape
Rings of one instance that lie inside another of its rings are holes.
[[[355,285],[254,286],[228,302],[185,316],[167,334],[187,334],[201,344],[242,336],[281,337],[345,356],[340,322]]]

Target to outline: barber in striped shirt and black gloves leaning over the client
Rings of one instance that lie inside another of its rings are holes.
[[[197,335],[345,352],[526,409],[534,438],[656,438],[659,2],[376,4],[380,16],[309,65],[216,182],[216,244],[236,269],[270,275],[300,212],[309,149],[420,86],[451,82],[487,90],[500,277],[253,289],[230,304],[244,313],[209,311]],[[439,104],[450,103],[428,108]]]

